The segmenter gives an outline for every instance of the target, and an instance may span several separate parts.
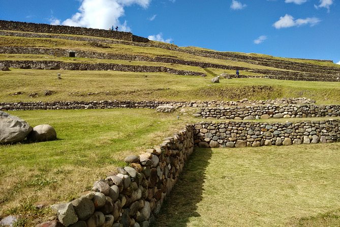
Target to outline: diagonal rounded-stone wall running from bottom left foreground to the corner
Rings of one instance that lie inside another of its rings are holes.
[[[52,209],[64,226],[147,227],[160,212],[193,151],[193,125],[187,125],[161,145],[127,157],[129,166],[96,181],[90,192]]]

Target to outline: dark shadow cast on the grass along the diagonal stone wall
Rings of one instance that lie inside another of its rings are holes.
[[[211,158],[211,149],[196,149],[184,167],[175,187],[163,204],[153,227],[187,226],[190,217],[199,217],[197,204],[202,200],[205,171]]]

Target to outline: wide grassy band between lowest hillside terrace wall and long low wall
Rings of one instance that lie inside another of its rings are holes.
[[[63,79],[58,80],[57,73],[61,73]],[[0,71],[0,87],[3,88],[0,90],[0,100],[227,101],[306,97],[319,104],[340,103],[340,87],[337,82],[234,78],[212,84],[211,77],[168,73],[12,69]],[[46,90],[51,90],[53,94],[44,96]],[[13,95],[17,92],[22,94]],[[31,93],[38,93],[38,97],[29,97]]]

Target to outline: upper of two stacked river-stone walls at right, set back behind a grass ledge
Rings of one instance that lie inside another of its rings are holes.
[[[258,120],[269,118],[320,118],[340,117],[340,105],[254,105],[254,106],[218,106],[198,110],[194,117]]]

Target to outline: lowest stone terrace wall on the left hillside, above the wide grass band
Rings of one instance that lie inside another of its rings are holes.
[[[167,72],[177,75],[198,76],[202,73],[177,70],[159,66],[139,66],[139,65],[122,65],[112,63],[68,63],[60,61],[0,61],[5,66],[18,69],[48,69],[48,70],[113,70],[122,72]]]

